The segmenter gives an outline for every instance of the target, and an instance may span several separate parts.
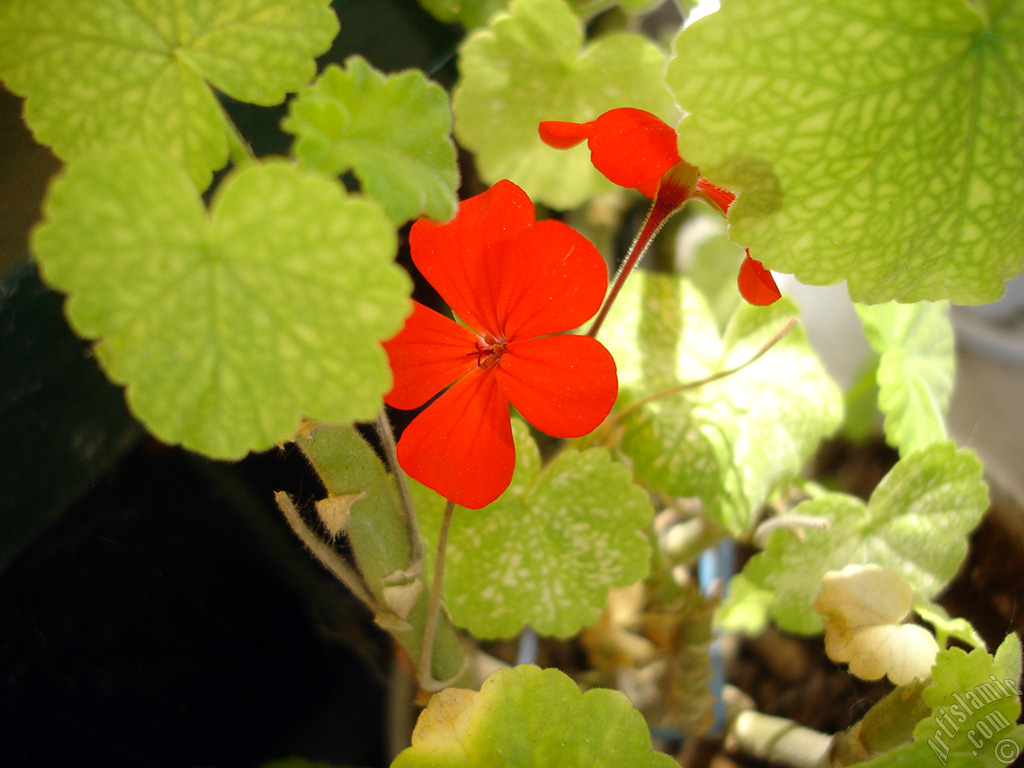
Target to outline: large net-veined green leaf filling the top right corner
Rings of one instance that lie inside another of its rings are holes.
[[[854,301],[991,301],[1024,269],[1024,0],[733,0],[681,33],[680,150],[731,234]]]

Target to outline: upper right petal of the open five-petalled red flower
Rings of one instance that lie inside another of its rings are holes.
[[[506,252],[497,312],[508,341],[570,331],[598,309],[608,269],[593,244],[560,221],[525,229]]]

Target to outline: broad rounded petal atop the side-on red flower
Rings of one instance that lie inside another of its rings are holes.
[[[653,198],[663,174],[679,163],[676,131],[643,110],[621,108],[594,121],[591,162],[610,181]]]

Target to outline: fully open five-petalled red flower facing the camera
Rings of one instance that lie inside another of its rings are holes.
[[[600,342],[563,335],[601,306],[604,260],[559,221],[537,222],[511,181],[463,201],[446,224],[421,219],[413,262],[465,324],[414,302],[384,348],[398,409],[419,408],[398,440],[398,462],[463,507],[483,507],[508,487],[515,466],[509,404],[556,437],[592,431],[618,382]]]

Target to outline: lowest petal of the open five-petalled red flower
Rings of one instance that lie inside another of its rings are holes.
[[[467,374],[398,440],[398,463],[411,477],[469,509],[501,496],[515,469],[509,404],[495,370]]]

